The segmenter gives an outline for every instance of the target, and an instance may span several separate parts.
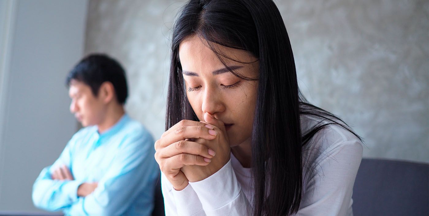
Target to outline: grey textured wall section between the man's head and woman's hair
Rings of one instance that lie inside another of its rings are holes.
[[[172,4],[172,6],[169,6]],[[169,69],[167,34],[181,3],[96,0],[88,4],[85,53],[105,52],[127,71],[126,109],[155,140],[164,132]]]

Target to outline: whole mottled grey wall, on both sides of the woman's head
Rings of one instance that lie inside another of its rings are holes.
[[[90,0],[85,53],[126,67],[126,108],[163,132],[171,22],[182,2]],[[428,1],[276,1],[300,86],[365,138],[364,156],[429,162]]]

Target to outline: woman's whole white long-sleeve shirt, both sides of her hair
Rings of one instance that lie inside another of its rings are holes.
[[[301,119],[302,131],[317,121]],[[303,190],[296,216],[353,216],[351,198],[363,145],[352,133],[331,125],[302,150]],[[210,177],[176,191],[161,174],[166,216],[245,216],[253,209],[251,168],[231,154]],[[250,214],[249,214],[250,215]]]

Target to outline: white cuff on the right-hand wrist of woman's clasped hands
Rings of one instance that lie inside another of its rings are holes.
[[[199,197],[204,210],[215,210],[237,198],[241,185],[231,165],[231,159],[208,178],[189,183]]]

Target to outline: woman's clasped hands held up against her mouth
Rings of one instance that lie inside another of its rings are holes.
[[[181,120],[155,142],[155,159],[175,190],[206,179],[230,160],[224,123],[209,113],[204,121]]]

